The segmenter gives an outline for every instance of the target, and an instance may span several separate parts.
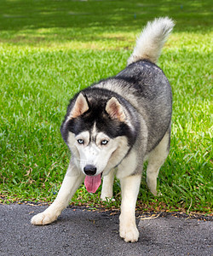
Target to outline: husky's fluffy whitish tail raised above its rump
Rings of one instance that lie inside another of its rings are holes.
[[[130,55],[128,65],[144,59],[156,63],[173,26],[175,26],[174,21],[168,17],[148,22],[136,41],[136,46],[132,55]]]

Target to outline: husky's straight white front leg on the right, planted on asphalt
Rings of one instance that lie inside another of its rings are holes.
[[[139,232],[135,224],[135,204],[141,184],[141,175],[120,178],[121,183],[121,214],[120,236],[124,241],[138,241]]]

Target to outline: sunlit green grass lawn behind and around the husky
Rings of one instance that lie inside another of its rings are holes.
[[[0,202],[53,201],[70,154],[60,136],[69,99],[125,67],[147,20],[176,27],[158,66],[173,90],[170,155],[142,211],[212,212],[211,1],[28,1],[0,3]],[[146,168],[145,168],[146,169]],[[72,203],[117,208],[82,185]]]

